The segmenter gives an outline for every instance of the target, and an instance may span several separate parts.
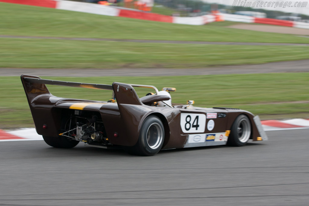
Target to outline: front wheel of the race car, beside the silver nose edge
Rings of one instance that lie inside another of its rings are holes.
[[[227,140],[227,145],[244,146],[251,136],[251,123],[246,115],[239,115],[231,127],[231,134]]]

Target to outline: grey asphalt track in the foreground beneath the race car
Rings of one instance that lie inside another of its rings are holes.
[[[269,131],[244,147],[122,150],[0,144],[0,205],[308,205],[309,129]]]

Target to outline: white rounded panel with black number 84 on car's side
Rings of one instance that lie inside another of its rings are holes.
[[[184,133],[199,133],[205,131],[206,115],[181,113],[180,127]]]

